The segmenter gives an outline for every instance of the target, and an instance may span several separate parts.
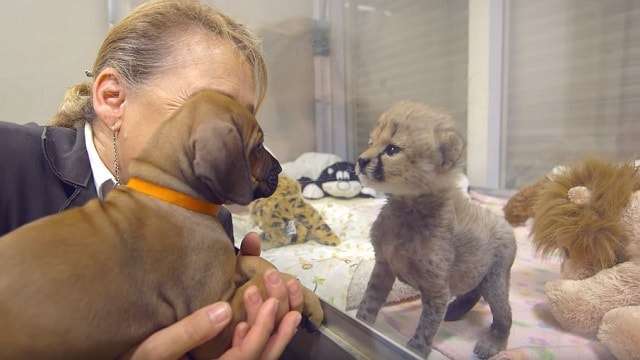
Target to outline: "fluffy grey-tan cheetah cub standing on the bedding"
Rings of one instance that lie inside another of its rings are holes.
[[[408,345],[427,356],[451,297],[447,320],[482,296],[493,324],[474,352],[488,358],[509,337],[516,242],[502,218],[456,188],[463,149],[450,117],[425,105],[401,102],[378,120],[357,165],[361,180],[388,202],[371,228],[376,263],[357,317],[375,322],[397,277],[420,291],[422,314]]]

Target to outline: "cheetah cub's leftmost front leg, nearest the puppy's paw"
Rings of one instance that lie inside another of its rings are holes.
[[[389,264],[382,260],[376,260],[356,317],[369,324],[375,323],[378,312],[387,300],[395,280],[396,277],[391,272]]]

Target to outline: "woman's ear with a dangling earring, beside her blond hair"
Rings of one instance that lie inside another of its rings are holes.
[[[109,129],[118,131],[127,96],[124,78],[115,69],[106,68],[96,76],[92,90],[96,116]]]

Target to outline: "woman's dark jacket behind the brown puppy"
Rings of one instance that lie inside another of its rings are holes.
[[[0,236],[97,196],[82,128],[0,122]],[[219,218],[233,240],[231,214]]]

